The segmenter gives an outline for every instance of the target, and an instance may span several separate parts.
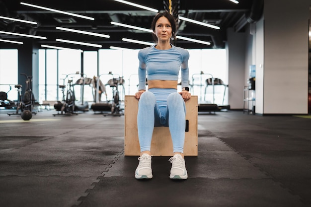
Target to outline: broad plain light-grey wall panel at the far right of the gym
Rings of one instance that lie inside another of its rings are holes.
[[[265,1],[264,114],[308,113],[309,1]]]

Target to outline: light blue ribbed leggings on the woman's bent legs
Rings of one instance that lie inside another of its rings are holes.
[[[173,152],[183,153],[186,106],[176,89],[151,88],[139,100],[137,114],[141,151],[150,151],[154,127],[169,127]]]

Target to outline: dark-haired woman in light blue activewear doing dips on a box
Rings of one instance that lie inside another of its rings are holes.
[[[188,80],[189,52],[170,44],[175,38],[176,24],[168,12],[158,13],[153,22],[156,44],[139,51],[139,88],[135,97],[139,100],[137,115],[138,137],[141,147],[139,165],[135,178],[150,179],[151,139],[154,127],[169,127],[173,143],[171,179],[187,179],[188,174],[183,157],[185,139],[185,101],[191,98]],[[177,92],[178,74],[181,71],[182,91]],[[146,91],[146,73],[148,91]]]

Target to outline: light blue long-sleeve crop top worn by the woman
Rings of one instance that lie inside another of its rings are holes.
[[[168,50],[158,50],[155,46],[141,49],[138,52],[138,90],[146,90],[146,74],[148,80],[178,81],[179,70],[181,71],[181,87],[188,87],[189,52],[174,45],[171,45],[172,47]]]

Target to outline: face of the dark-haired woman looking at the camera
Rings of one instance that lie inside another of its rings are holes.
[[[158,41],[169,41],[172,36],[172,26],[165,16],[156,21],[155,34]]]

